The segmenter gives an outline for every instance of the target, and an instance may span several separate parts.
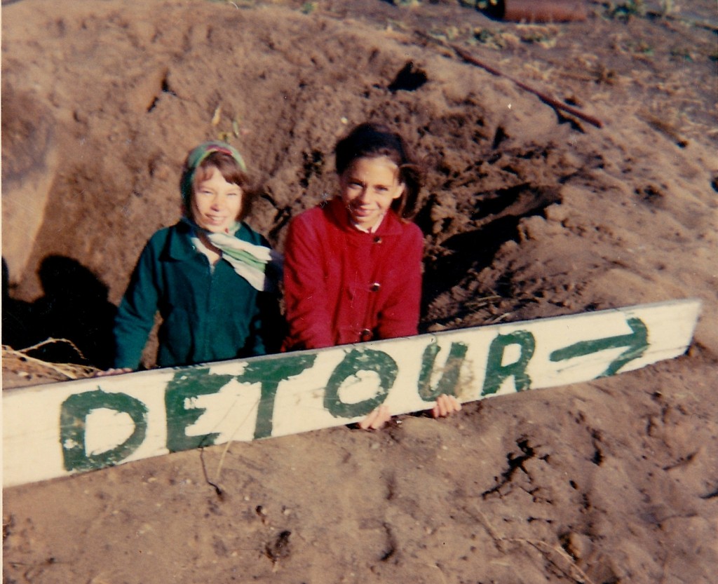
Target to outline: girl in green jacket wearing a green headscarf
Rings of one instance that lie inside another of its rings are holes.
[[[184,217],[150,238],[118,308],[108,374],[137,369],[157,312],[157,365],[263,355],[281,339],[276,284],[281,256],[242,220],[249,208],[244,161],[224,142],[187,156]]]

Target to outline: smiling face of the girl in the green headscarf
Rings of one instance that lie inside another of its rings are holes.
[[[226,233],[242,210],[242,189],[227,182],[216,167],[211,170],[209,177],[199,182],[192,193],[192,219],[207,231]]]

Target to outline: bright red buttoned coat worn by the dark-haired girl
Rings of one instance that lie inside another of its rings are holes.
[[[289,349],[416,335],[424,237],[393,211],[375,233],[335,198],[294,218],[286,238]]]

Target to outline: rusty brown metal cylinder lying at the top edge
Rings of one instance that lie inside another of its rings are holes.
[[[489,0],[490,17],[511,22],[574,22],[586,19],[584,0]]]

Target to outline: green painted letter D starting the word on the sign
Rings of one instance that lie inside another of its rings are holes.
[[[134,431],[122,444],[103,453],[85,453],[85,426],[87,417],[95,409],[113,409],[123,412],[134,422]],[[71,395],[60,409],[60,444],[65,471],[92,471],[117,464],[134,453],[144,442],[147,433],[145,404],[127,394],[111,394],[97,389]]]

